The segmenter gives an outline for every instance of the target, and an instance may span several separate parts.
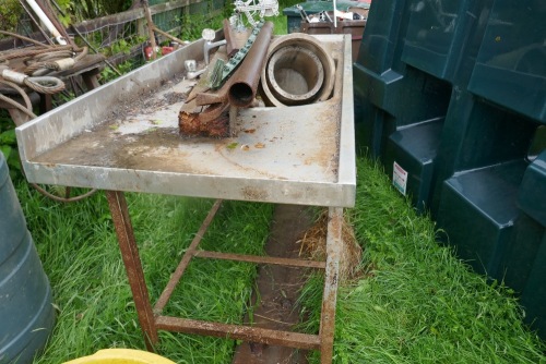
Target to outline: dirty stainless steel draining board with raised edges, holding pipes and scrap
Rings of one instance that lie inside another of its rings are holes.
[[[202,40],[16,130],[29,182],[271,203],[353,206],[351,38],[316,36],[336,63],[323,102],[239,110],[234,137],[178,135],[183,61]]]

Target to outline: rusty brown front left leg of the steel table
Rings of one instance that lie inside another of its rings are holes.
[[[108,198],[111,219],[116,227],[119,248],[121,251],[123,264],[126,265],[129,284],[133,293],[139,321],[144,331],[146,349],[149,351],[154,351],[154,344],[158,341],[157,328],[155,326],[155,318],[150,303],[150,295],[144,280],[142,263],[134,240],[133,227],[131,225],[131,218],[129,217],[126,197],[123,192],[120,191],[106,191],[106,197]]]

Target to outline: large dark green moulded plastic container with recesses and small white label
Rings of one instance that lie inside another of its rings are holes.
[[[534,0],[375,1],[354,64],[359,148],[543,337],[544,19]]]

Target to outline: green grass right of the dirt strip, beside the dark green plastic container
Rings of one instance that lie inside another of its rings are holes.
[[[439,245],[430,219],[373,162],[358,160],[348,214],[366,274],[340,288],[334,363],[546,363],[511,290],[488,284]],[[321,290],[314,277],[301,296],[309,331],[318,330]]]

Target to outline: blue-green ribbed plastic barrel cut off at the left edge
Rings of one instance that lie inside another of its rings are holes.
[[[0,153],[0,363],[31,363],[54,321],[49,280]]]

